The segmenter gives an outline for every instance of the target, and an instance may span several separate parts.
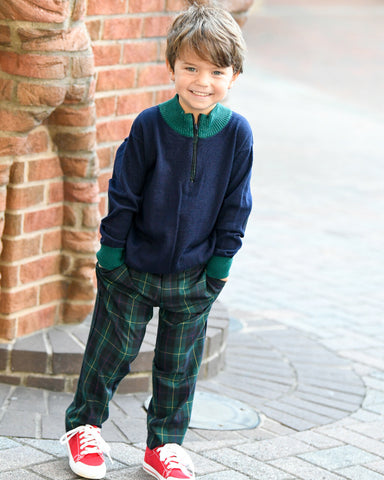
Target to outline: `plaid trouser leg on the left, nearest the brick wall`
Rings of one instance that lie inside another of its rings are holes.
[[[97,266],[96,273],[98,293],[77,391],[66,412],[67,431],[101,427],[107,420],[109,401],[129,373],[153,314],[151,284],[143,296],[125,265],[112,271]]]

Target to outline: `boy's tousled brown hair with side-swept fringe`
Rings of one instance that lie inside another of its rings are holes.
[[[191,48],[203,60],[242,73],[245,42],[239,25],[213,2],[194,2],[174,20],[167,37],[166,58],[174,70],[183,48]]]

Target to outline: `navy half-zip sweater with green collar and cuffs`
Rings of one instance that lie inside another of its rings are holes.
[[[198,125],[177,96],[144,110],[116,153],[99,263],[227,276],[251,210],[252,146],[247,120],[221,104]]]

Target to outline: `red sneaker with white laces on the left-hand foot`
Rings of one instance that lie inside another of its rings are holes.
[[[103,452],[109,457],[110,447],[102,439],[100,428],[82,425],[64,434],[60,443],[67,445],[69,466],[76,475],[91,479],[105,477]]]

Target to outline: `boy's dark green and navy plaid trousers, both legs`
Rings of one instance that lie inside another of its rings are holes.
[[[146,326],[159,309],[148,409],[148,447],[181,444],[187,431],[203,355],[207,318],[224,283],[199,266],[152,275],[122,265],[96,267],[98,293],[83,366],[66,429],[101,426],[109,401],[139,353]]]

